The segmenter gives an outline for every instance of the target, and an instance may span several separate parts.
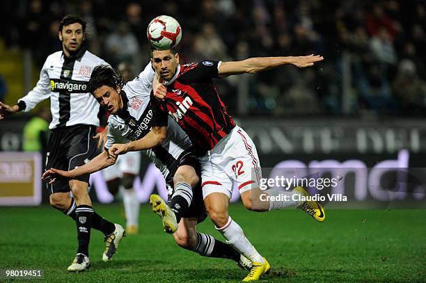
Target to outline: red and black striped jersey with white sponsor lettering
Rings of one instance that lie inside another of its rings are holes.
[[[167,95],[159,102],[191,139],[199,154],[205,154],[230,133],[235,122],[226,111],[212,78],[218,77],[219,61],[179,65],[166,83]]]

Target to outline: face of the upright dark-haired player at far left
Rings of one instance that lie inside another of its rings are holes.
[[[62,41],[63,52],[66,56],[76,54],[84,40],[83,26],[79,23],[63,26],[58,33],[59,40]]]

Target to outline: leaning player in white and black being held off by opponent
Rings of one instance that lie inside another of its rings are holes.
[[[196,231],[197,223],[205,220],[207,216],[198,177],[200,165],[191,151],[191,141],[179,125],[167,115],[155,113],[155,108],[152,108],[150,93],[153,79],[154,71],[151,64],[125,86],[111,67],[96,67],[90,77],[89,90],[111,114],[105,151],[86,165],[74,170],[63,171],[54,168],[47,170],[43,174],[43,179],[53,177],[50,182],[54,182],[61,179],[60,177],[72,178],[107,168],[116,162],[108,154],[108,149],[113,143],[129,143],[131,140],[155,133],[157,128],[165,129],[164,124],[168,124],[167,131],[161,134],[161,142],[152,145],[152,149],[146,154],[166,179],[169,204],[175,213],[158,195],[150,197],[153,209],[157,210],[161,217],[163,214],[166,216],[163,217],[164,228],[168,232],[174,232],[173,237],[182,248],[197,252],[204,257],[232,259],[242,268],[251,268],[250,261],[230,245]],[[154,99],[155,102],[156,100]],[[154,130],[150,131],[151,127]],[[179,208],[176,208],[177,204]],[[176,221],[179,223],[178,227],[171,227],[168,224]]]

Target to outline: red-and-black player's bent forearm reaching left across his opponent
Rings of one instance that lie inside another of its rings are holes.
[[[156,145],[161,145],[164,138],[166,138],[166,134],[167,127],[152,127],[151,131],[140,140],[134,140],[126,144],[114,143],[111,147],[109,147],[108,153],[112,156],[112,158],[116,159],[120,154],[151,149]]]

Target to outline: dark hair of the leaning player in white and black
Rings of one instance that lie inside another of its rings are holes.
[[[112,67],[109,65],[98,65],[90,75],[87,90],[93,95],[93,92],[102,86],[110,86],[111,88],[120,86],[120,88],[123,88],[124,83]]]

